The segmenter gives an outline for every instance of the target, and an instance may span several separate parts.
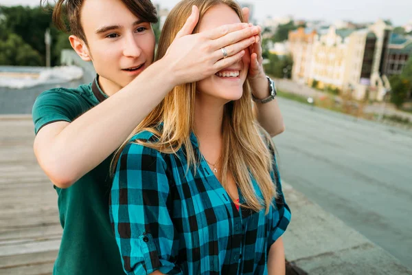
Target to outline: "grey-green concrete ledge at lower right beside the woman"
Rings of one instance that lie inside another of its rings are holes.
[[[284,234],[286,259],[312,274],[412,274],[391,254],[371,243],[289,184],[283,191],[292,210]]]

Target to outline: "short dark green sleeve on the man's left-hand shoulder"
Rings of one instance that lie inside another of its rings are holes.
[[[37,135],[43,126],[53,122],[72,122],[80,113],[79,108],[78,98],[62,89],[43,92],[36,98],[32,109],[34,133]]]

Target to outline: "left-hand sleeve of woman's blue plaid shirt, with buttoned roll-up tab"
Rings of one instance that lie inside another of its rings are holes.
[[[126,274],[183,274],[175,264],[179,242],[168,211],[171,203],[161,153],[128,144],[117,162],[110,215]]]

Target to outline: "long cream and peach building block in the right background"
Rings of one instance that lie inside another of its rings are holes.
[[[380,20],[361,30],[324,32],[297,30],[290,33],[293,79],[320,89],[331,87],[362,100],[382,100],[391,88],[385,75],[391,26]]]

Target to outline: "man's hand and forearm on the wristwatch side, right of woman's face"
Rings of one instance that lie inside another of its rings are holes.
[[[249,8],[243,8],[244,20],[249,22]],[[251,66],[249,68],[249,81],[253,96],[258,99],[267,98],[269,94],[268,80],[264,74],[262,58],[262,29],[259,32],[259,41],[249,47]],[[256,104],[258,122],[274,137],[285,131],[285,124],[277,100],[265,104]]]

